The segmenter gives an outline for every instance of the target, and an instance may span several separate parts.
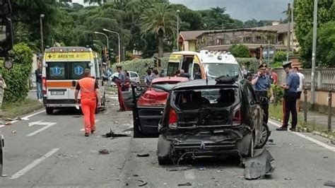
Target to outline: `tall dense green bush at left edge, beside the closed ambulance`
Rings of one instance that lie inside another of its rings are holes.
[[[4,102],[20,102],[28,96],[28,80],[33,68],[33,52],[25,44],[19,43],[10,52],[13,59],[13,68],[4,69],[0,65],[0,72],[6,81],[7,88],[4,93]]]

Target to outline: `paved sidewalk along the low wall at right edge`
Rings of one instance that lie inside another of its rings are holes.
[[[304,118],[304,112],[299,112],[299,116]],[[319,112],[307,111],[307,122],[318,124],[322,129],[328,129],[328,114]],[[331,116],[331,130],[335,131],[335,116]]]

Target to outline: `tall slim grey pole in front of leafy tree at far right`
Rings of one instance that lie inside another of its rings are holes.
[[[313,45],[312,45],[312,84],[310,87],[310,104],[315,105],[315,57],[317,52],[317,0],[314,0],[314,16],[313,16]]]

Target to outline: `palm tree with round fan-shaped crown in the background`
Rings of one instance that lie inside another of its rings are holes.
[[[158,57],[163,57],[163,40],[175,35],[176,16],[168,4],[155,4],[141,16],[141,34],[158,38]]]

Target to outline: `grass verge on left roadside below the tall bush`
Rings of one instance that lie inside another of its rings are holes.
[[[38,100],[25,99],[22,102],[5,103],[2,107],[3,118],[14,118],[35,110],[40,110],[43,107]]]

